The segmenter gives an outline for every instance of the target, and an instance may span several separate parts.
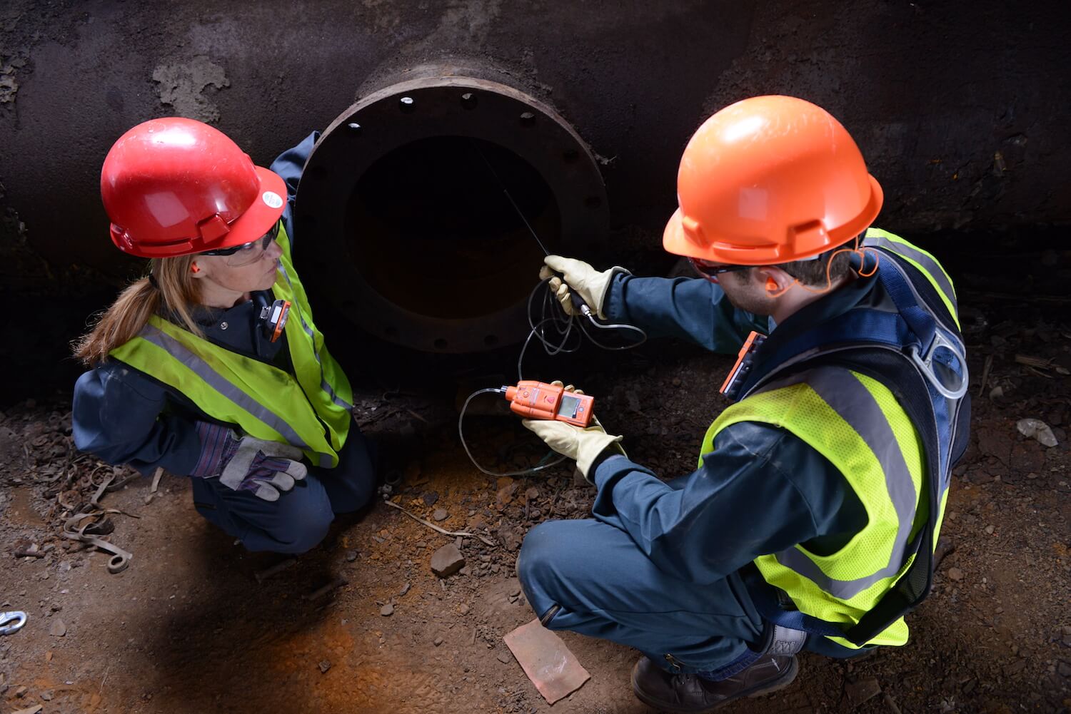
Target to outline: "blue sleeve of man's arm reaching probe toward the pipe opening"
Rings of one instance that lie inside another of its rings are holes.
[[[704,278],[618,274],[603,310],[614,322],[640,328],[648,337],[679,337],[713,352],[736,353],[752,330],[769,334],[769,318],[737,309],[718,285]]]

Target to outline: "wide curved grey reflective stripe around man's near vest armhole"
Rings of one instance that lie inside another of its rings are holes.
[[[904,565],[904,553],[914,553],[917,548],[910,548],[908,537],[911,525],[915,522],[916,495],[911,472],[904,461],[896,437],[889,426],[881,408],[870,391],[855,375],[840,367],[818,367],[794,375],[774,382],[763,391],[780,389],[790,384],[805,383],[813,389],[829,407],[840,414],[862,438],[863,442],[874,452],[875,458],[885,472],[885,486],[889,491],[889,500],[896,511],[899,527],[896,538],[889,553],[889,563],[878,572],[856,580],[836,580],[826,575],[821,568],[802,550],[793,547],[774,553],[778,562],[787,568],[799,573],[813,581],[824,591],[848,599],[872,584],[895,575]]]

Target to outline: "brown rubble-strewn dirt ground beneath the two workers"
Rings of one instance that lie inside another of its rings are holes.
[[[729,711],[1068,711],[1071,318],[1060,295],[1071,253],[1031,256],[1046,284],[995,280],[999,256],[949,259],[970,349],[972,438],[910,641],[854,663],[804,654],[790,687]],[[0,609],[29,613],[21,631],[0,636],[0,712],[648,711],[631,692],[637,655],[628,648],[563,634],[591,679],[550,708],[503,644],[533,618],[514,574],[527,529],[584,517],[593,489],[571,468],[495,478],[472,467],[457,440],[457,382],[510,371],[509,360],[476,362],[454,363],[452,381],[355,377],[356,419],[403,476],[392,502],[482,536],[456,538],[466,566],[446,579],[429,560],[455,538],[377,501],[260,582],[258,572],[285,559],[235,545],[196,514],[187,480],[171,475],[155,495],[138,477],[102,497],[121,512],[109,514],[108,537],[134,553],[111,575],[107,556],[64,540],[62,523],[95,484],[130,472],[74,452],[69,391],[0,405]],[[669,477],[693,468],[725,406],[715,390],[730,363],[651,343],[533,356],[526,376],[583,384],[630,455]],[[1023,419],[1047,424],[1057,445],[1021,434]],[[543,453],[510,416],[466,420],[466,437],[496,470]],[[317,593],[337,578],[345,584]]]

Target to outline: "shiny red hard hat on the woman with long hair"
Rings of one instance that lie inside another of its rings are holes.
[[[283,213],[286,184],[217,128],[166,117],[112,145],[101,197],[120,250],[169,258],[263,236]]]

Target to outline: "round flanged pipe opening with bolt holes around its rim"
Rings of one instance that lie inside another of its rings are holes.
[[[547,249],[583,256],[605,236],[605,196],[553,109],[498,82],[432,77],[369,94],[328,127],[296,230],[315,222],[320,287],[349,319],[408,347],[474,352],[527,334],[542,252],[526,222]]]

